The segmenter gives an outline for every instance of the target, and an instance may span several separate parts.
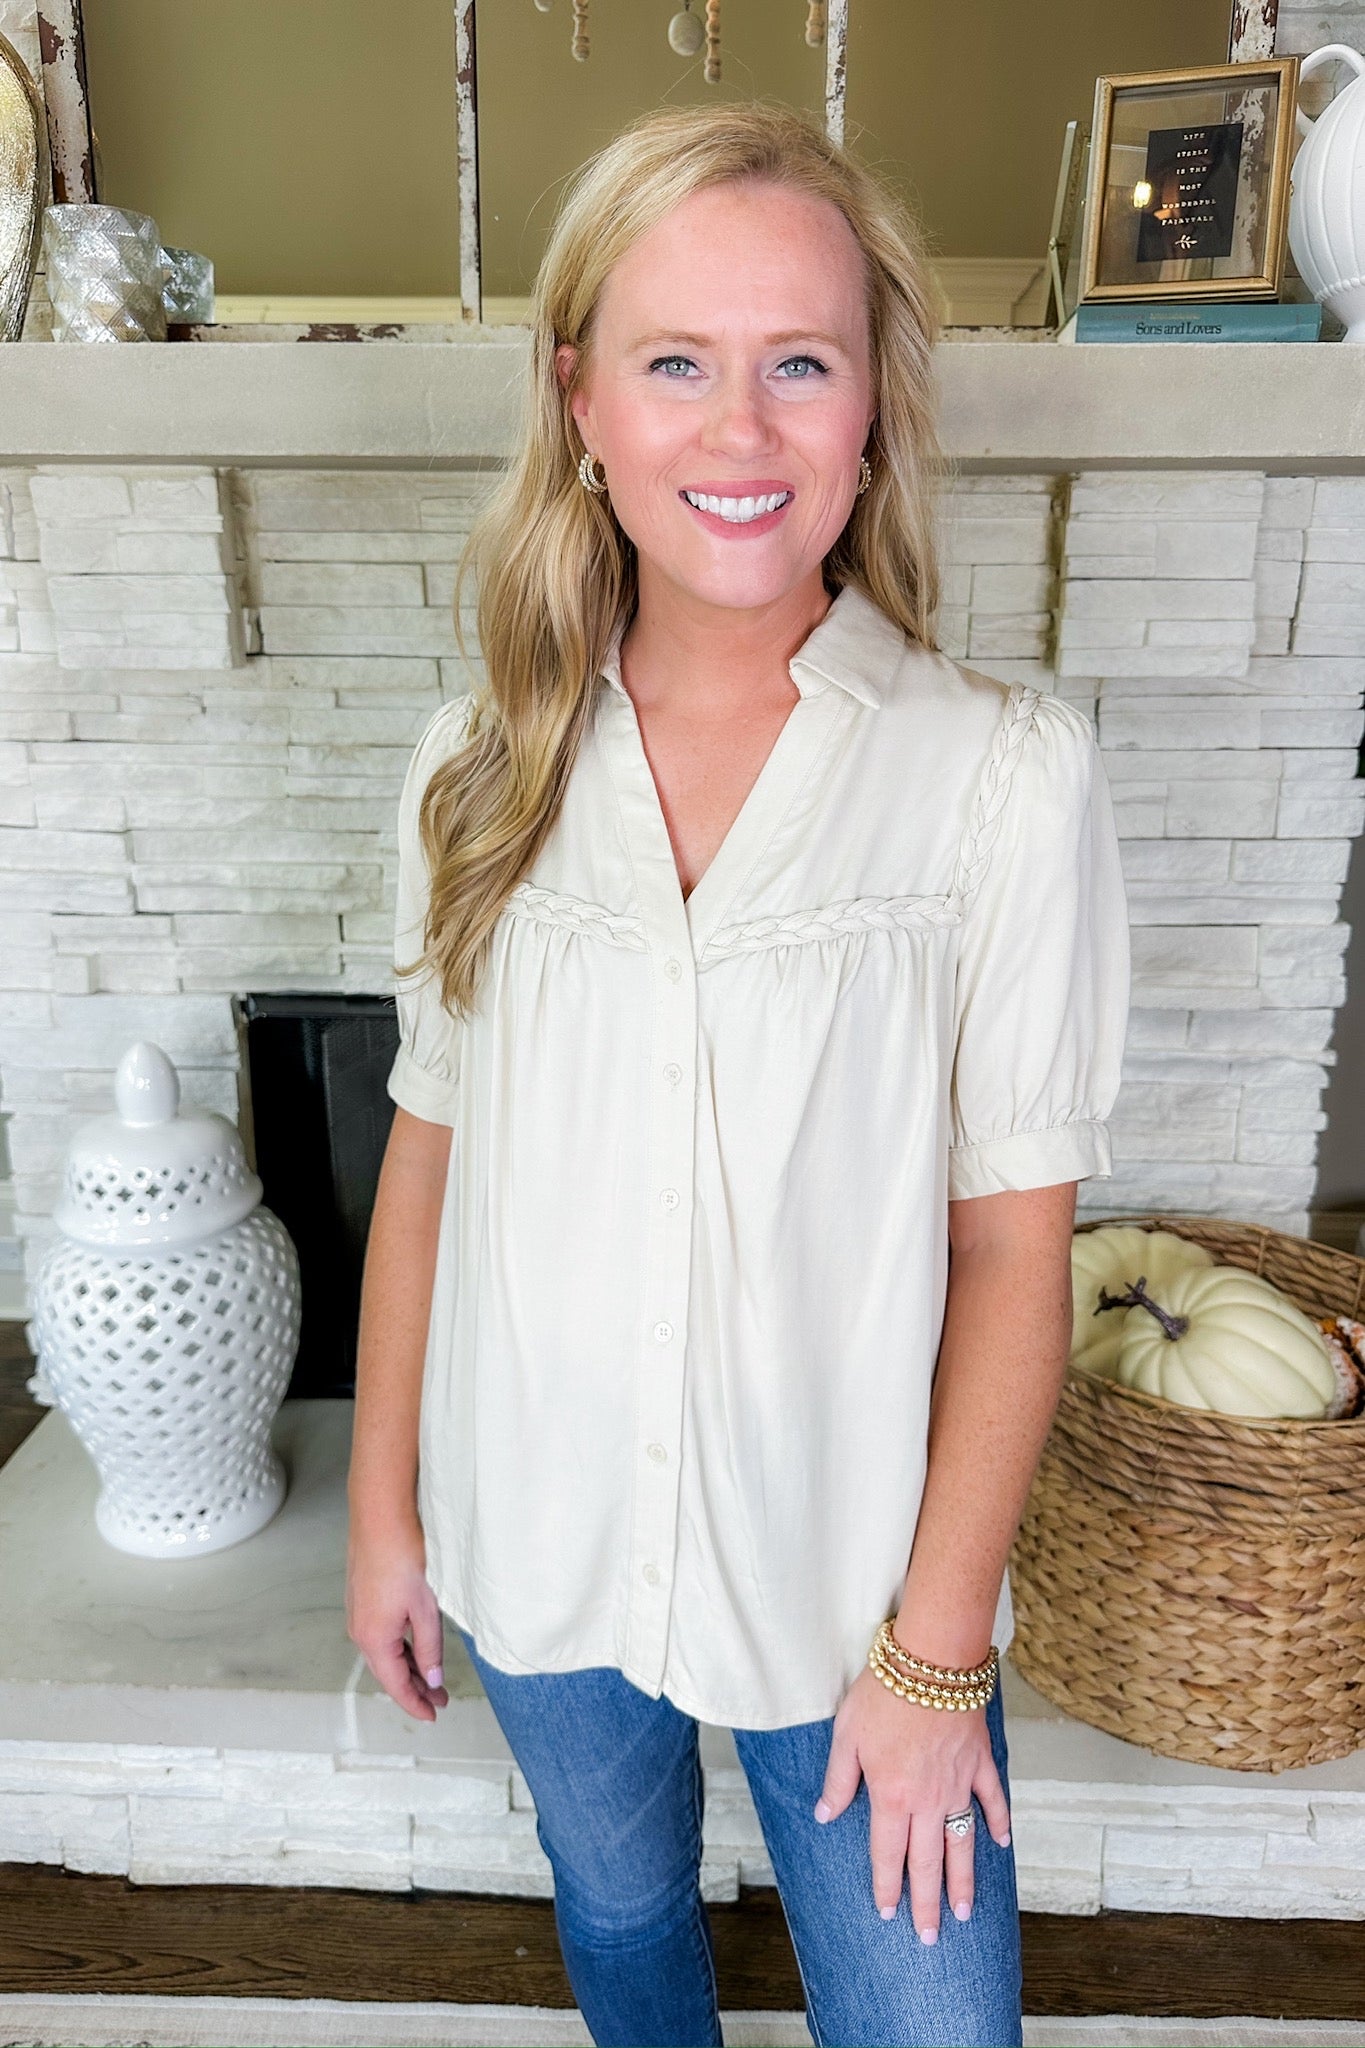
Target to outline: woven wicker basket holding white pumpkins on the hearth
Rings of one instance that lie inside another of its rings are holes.
[[[1365,1260],[1214,1217],[1099,1217],[1205,1245],[1312,1317]],[[1072,1370],[1009,1561],[1011,1659],[1162,1757],[1283,1772],[1365,1743],[1365,1415],[1254,1421]]]

